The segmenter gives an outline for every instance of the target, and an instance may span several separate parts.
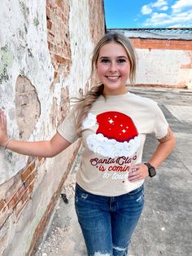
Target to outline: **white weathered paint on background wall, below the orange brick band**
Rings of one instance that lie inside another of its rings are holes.
[[[192,88],[191,51],[137,49],[136,85]]]

